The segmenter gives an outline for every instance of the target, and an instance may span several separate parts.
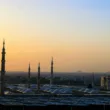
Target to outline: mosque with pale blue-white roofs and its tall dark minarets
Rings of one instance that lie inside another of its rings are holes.
[[[40,62],[38,63],[38,72],[37,72],[37,84],[34,84],[34,87],[32,87],[33,84],[31,84],[31,65],[29,63],[29,67],[28,67],[28,83],[25,86],[23,85],[9,85],[6,84],[5,81],[5,74],[6,74],[6,70],[5,70],[5,55],[6,55],[6,50],[5,50],[5,40],[3,41],[3,47],[2,47],[2,58],[1,58],[1,84],[0,84],[0,94],[1,96],[4,96],[6,94],[6,90],[8,89],[9,92],[19,92],[21,94],[42,94],[42,93],[46,93],[46,94],[73,94],[81,92],[83,94],[87,93],[87,94],[94,94],[97,93],[97,90],[92,90],[91,88],[87,88],[87,87],[75,87],[75,86],[66,86],[66,85],[54,85],[53,83],[53,57],[51,59],[51,67],[50,67],[50,84],[44,84],[43,86],[41,86],[40,83],[40,79],[41,79],[41,67],[40,67]],[[94,74],[93,74],[93,81],[94,82]],[[7,86],[8,85],[8,86]],[[94,83],[92,83],[92,86],[94,86]],[[35,91],[36,92],[35,92]],[[34,92],[33,92],[34,91]],[[10,94],[10,93],[9,93]]]

